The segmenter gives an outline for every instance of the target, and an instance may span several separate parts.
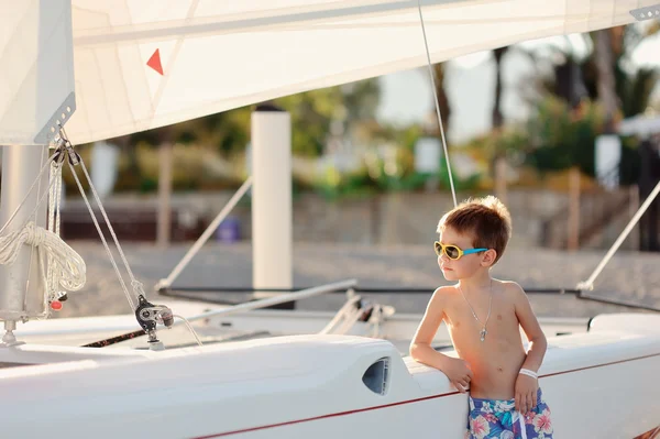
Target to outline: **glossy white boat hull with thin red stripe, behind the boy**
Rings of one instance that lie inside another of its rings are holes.
[[[556,437],[634,438],[660,424],[660,331],[648,329],[659,323],[604,316],[587,333],[549,339],[540,385]],[[0,350],[0,362],[55,354],[76,361],[0,370],[0,394],[12,395],[0,402],[2,437],[461,438],[468,415],[466,395],[441,372],[385,340],[294,336],[165,352],[22,345]],[[362,381],[381,359],[384,394]]]

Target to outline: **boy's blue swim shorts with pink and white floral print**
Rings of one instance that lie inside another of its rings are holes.
[[[514,399],[470,397],[465,439],[552,439],[550,408],[538,391],[537,406],[526,415],[515,409]]]

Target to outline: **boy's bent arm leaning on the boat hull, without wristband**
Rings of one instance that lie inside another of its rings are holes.
[[[444,297],[442,297],[442,288],[438,288],[429,300],[417,332],[410,342],[410,356],[415,361],[442,371],[457,389],[465,392],[472,378],[472,371],[470,371],[468,363],[444,355],[431,347],[436,332],[442,323],[443,316]]]

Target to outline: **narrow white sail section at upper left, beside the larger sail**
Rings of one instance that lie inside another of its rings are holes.
[[[73,91],[70,0],[0,0],[0,145],[48,143]]]

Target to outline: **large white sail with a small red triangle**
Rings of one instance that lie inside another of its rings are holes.
[[[627,24],[635,20],[631,10],[656,2],[421,3],[431,59],[438,63],[520,41]],[[2,0],[2,9],[16,11],[22,3]],[[74,143],[427,62],[417,0],[73,0],[72,4],[78,110],[66,129]],[[4,30],[0,65],[7,65],[10,56],[12,75],[25,76],[31,61],[12,57],[12,44],[24,32],[7,26],[12,17],[3,12],[0,19]],[[56,74],[55,68],[40,68]],[[7,72],[0,75],[8,77]],[[3,80],[0,101],[20,99],[20,84],[15,78]],[[7,117],[9,107],[0,103],[0,114]],[[7,142],[10,129],[0,125],[0,143]]]

